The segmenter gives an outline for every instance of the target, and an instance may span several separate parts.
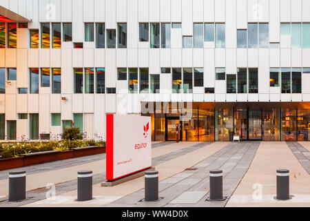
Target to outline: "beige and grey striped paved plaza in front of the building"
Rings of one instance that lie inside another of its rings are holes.
[[[10,170],[27,171],[27,198],[21,202],[8,202],[9,171],[0,171],[0,206],[310,206],[309,151],[310,142],[153,142],[157,202],[144,202],[144,177],[102,187],[105,154],[100,154]],[[223,170],[227,200],[207,201],[213,169]],[[291,200],[274,199],[277,169],[290,170]],[[85,170],[94,174],[94,199],[76,202],[76,174]]]

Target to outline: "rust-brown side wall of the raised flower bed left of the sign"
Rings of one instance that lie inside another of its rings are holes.
[[[81,148],[72,148],[70,151],[44,151],[38,153],[27,153],[21,157],[0,159],[0,171],[16,169],[23,166],[32,166],[46,162],[58,160],[68,160],[75,157],[84,157],[105,153],[105,146],[87,146]]]

